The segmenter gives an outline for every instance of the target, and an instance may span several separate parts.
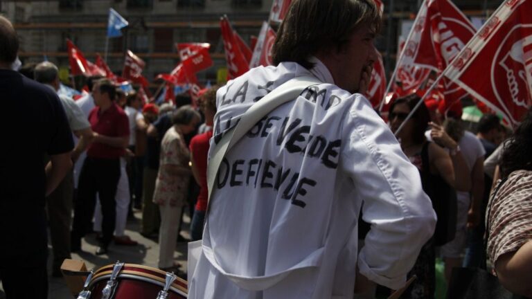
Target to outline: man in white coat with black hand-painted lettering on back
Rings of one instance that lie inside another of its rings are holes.
[[[372,0],[295,0],[275,66],[218,89],[210,154],[257,100],[321,81],[271,111],[223,159],[188,298],[353,298],[405,285],[436,215],[366,91],[381,15]],[[358,251],[357,221],[371,224]],[[353,294],[356,295],[353,295]]]

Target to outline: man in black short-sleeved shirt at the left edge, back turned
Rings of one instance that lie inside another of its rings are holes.
[[[0,17],[0,279],[8,299],[46,298],[45,196],[71,169],[73,141],[57,94],[12,71],[18,48]]]

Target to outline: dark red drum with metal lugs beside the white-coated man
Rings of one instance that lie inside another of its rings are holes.
[[[186,280],[173,273],[138,264],[117,262],[87,276],[78,299],[187,298]]]

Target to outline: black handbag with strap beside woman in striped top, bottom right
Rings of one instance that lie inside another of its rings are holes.
[[[499,182],[495,192],[493,192],[491,199],[495,198],[495,194],[499,191],[500,186],[504,181]],[[490,203],[492,202],[490,201]],[[488,221],[486,221],[486,235],[484,237],[484,248],[482,251],[482,262],[480,268],[454,268],[451,273],[451,280],[447,287],[447,299],[521,299],[523,296],[515,295],[508,291],[499,283],[499,279],[486,271],[486,248],[488,247],[489,232],[489,213],[491,204],[488,206],[486,213]]]

